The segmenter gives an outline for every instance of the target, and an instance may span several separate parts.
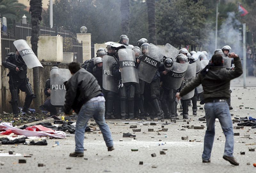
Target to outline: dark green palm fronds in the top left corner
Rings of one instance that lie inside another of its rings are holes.
[[[18,3],[18,0],[0,0],[1,18],[6,17],[8,30],[12,30],[13,20],[22,20],[23,14],[27,16],[27,21],[30,22],[31,17],[25,8],[26,6]]]

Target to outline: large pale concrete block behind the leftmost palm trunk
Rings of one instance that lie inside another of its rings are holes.
[[[27,37],[28,45],[31,37]],[[63,45],[60,36],[40,36],[38,41],[37,57],[40,62],[63,61]]]

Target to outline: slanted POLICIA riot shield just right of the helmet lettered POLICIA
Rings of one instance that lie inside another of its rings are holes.
[[[173,62],[171,71],[166,74],[164,87],[174,90],[179,89],[188,68],[188,64],[188,62],[184,64]]]

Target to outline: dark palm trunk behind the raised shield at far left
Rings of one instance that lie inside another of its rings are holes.
[[[37,43],[40,34],[40,21],[42,20],[42,0],[30,0],[29,12],[31,13],[31,45],[32,50],[37,56]],[[34,92],[37,97],[34,99],[36,113],[41,113],[39,106],[41,103],[41,92],[39,87],[39,68],[33,68]]]

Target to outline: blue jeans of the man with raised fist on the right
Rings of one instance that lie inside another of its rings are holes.
[[[234,132],[228,103],[205,103],[204,109],[207,130],[204,136],[204,152],[202,155],[202,159],[209,160],[211,158],[212,145],[215,135],[215,118],[219,119],[221,128],[226,137],[224,155],[233,157]]]

